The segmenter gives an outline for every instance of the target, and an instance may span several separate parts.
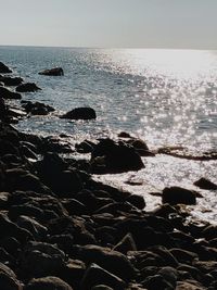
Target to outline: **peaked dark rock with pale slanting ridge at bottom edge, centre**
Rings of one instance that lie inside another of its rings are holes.
[[[103,269],[97,264],[91,264],[85,273],[80,288],[89,290],[95,285],[104,283],[112,287],[114,290],[125,289],[126,283],[117,276]]]

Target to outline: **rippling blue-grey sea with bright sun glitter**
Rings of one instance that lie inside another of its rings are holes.
[[[71,143],[116,138],[127,131],[144,140],[151,150],[184,147],[196,154],[217,151],[217,51],[1,46],[0,61],[14,76],[42,89],[23,93],[23,100],[55,108],[48,116],[20,121],[16,127],[22,131],[64,134]],[[56,66],[63,67],[64,76],[38,74]],[[59,117],[78,106],[93,108],[97,119]],[[189,211],[195,218],[217,223],[217,191],[193,186],[201,177],[217,184],[217,161],[157,154],[143,162],[145,168],[139,172],[94,178],[142,194],[146,211],[161,204],[165,187],[197,190],[203,198]]]

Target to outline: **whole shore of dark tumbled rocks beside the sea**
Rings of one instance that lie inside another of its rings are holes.
[[[12,71],[0,63],[0,73]],[[5,104],[7,96],[22,96],[5,88],[3,79],[5,75],[0,78],[0,289],[217,289],[217,227],[190,220],[184,207],[196,203],[197,192],[165,188],[162,205],[146,212],[142,197],[95,181],[92,174],[139,171],[144,167],[141,156],[156,152],[123,133],[118,141],[77,144],[77,152],[91,154],[89,161],[63,157],[72,149],[61,139],[24,134],[11,125],[25,114]],[[23,105],[27,114],[47,108]],[[217,188],[206,179],[196,185]]]

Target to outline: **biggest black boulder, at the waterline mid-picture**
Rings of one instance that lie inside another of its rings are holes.
[[[93,173],[122,173],[139,171],[144,167],[135,148],[125,142],[102,139],[91,153]]]

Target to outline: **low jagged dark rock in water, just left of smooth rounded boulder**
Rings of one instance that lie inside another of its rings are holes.
[[[23,101],[22,106],[31,115],[48,115],[50,112],[55,111],[52,106],[41,102]]]

